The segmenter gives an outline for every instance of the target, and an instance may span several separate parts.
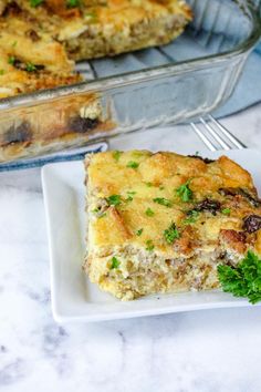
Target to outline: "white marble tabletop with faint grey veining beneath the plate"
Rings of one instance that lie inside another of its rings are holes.
[[[261,148],[261,105],[223,123]],[[123,143],[202,147],[188,127],[133,134],[112,147]],[[261,391],[260,308],[55,324],[40,171],[1,174],[0,182],[1,391]]]

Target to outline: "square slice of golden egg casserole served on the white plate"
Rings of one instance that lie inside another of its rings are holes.
[[[84,269],[117,298],[218,288],[218,265],[261,255],[261,202],[226,156],[107,152],[85,168]]]

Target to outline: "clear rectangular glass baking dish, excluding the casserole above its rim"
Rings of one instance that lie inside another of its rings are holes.
[[[80,62],[83,83],[0,100],[0,167],[221,105],[261,35],[259,1],[187,2],[194,21],[173,43]]]

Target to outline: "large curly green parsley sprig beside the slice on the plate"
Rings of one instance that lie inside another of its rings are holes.
[[[225,292],[246,297],[251,303],[261,301],[261,259],[253,251],[237,267],[219,265],[218,278]]]

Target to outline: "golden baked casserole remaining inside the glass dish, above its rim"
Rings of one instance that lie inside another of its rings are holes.
[[[80,82],[75,60],[168,43],[191,20],[182,0],[12,0],[0,11],[0,97]]]

